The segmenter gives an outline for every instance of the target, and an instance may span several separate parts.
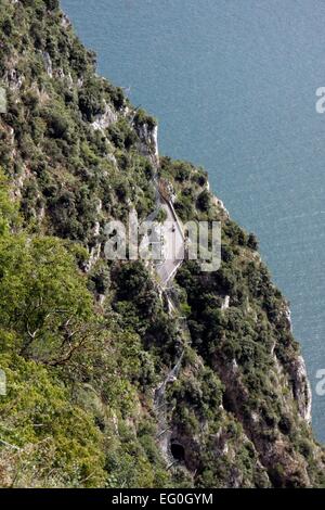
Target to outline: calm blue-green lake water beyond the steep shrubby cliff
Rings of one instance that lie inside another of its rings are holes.
[[[63,0],[99,73],[159,120],[160,153],[209,171],[290,301],[325,442],[323,0]]]

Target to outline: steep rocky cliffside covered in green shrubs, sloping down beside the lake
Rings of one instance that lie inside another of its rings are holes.
[[[100,341],[81,335],[63,357],[44,329],[49,315],[37,311],[39,304],[20,330],[13,320],[5,322],[1,337],[28,339],[24,348],[10,347],[18,359],[10,366],[13,381],[34,384],[31,369],[21,368],[32,362],[54,387],[64,385],[66,403],[77,406],[73,416],[91,422],[87,455],[92,458],[88,472],[88,457],[79,454],[82,441],[66,434],[80,446],[69,447],[80,469],[73,473],[56,462],[53,471],[62,443],[51,426],[63,422],[61,408],[51,411],[46,435],[42,426],[31,434],[41,417],[28,400],[14,423],[5,415],[17,398],[13,384],[4,407],[0,403],[8,430],[15,430],[1,437],[0,483],[322,486],[324,452],[310,428],[303,359],[287,304],[260,260],[255,237],[230,219],[204,170],[159,157],[155,119],[96,76],[94,55],[55,0],[1,0],[0,25],[0,85],[8,95],[8,112],[0,115],[0,165],[22,217],[11,235],[24,232],[27,247],[34,240],[64,240],[104,331]],[[187,260],[165,289],[153,265],[105,260],[106,221],[126,220],[130,212],[145,219],[156,206],[157,179],[172,190],[182,221],[222,222],[218,271],[202,272]],[[17,306],[23,309],[24,303]],[[4,321],[9,311],[1,314]],[[61,335],[68,320],[51,328]],[[78,331],[92,328],[83,316],[82,321]],[[37,323],[34,332],[30,322]],[[9,362],[8,342],[1,346],[0,368]],[[62,426],[65,432],[68,425]],[[46,437],[52,438],[51,448]],[[38,466],[32,481],[18,468],[15,447]]]

